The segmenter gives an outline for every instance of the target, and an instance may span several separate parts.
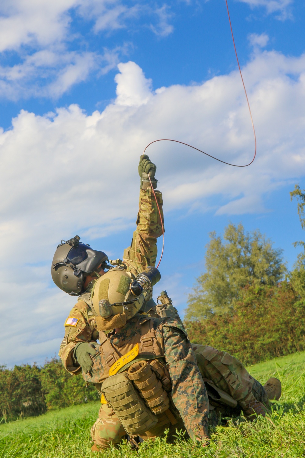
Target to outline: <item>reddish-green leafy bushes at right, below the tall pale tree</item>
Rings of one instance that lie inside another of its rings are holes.
[[[232,313],[185,324],[192,342],[225,350],[245,364],[305,349],[305,300],[288,282],[246,286]]]

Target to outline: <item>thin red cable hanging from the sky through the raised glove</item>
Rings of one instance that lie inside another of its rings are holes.
[[[233,40],[233,45],[234,45],[234,51],[235,51],[235,56],[236,56],[236,60],[237,60],[237,65],[238,65],[238,69],[239,69],[239,72],[240,72],[240,75],[241,75],[242,85],[243,85],[243,87],[244,87],[244,91],[245,91],[245,94],[246,94],[246,100],[247,100],[248,109],[249,109],[250,118],[251,118],[251,124],[252,124],[252,128],[253,128],[253,134],[254,134],[254,156],[253,156],[253,159],[251,160],[251,162],[249,162],[249,164],[245,164],[245,165],[230,164],[230,162],[225,162],[225,161],[222,161],[221,159],[215,158],[215,157],[212,156],[211,154],[205,153],[205,152],[202,151],[201,149],[195,148],[194,146],[189,145],[188,143],[180,142],[179,140],[172,140],[171,138],[159,138],[158,140],[154,140],[153,142],[150,142],[150,143],[145,147],[143,154],[145,154],[146,149],[147,149],[150,145],[152,145],[153,143],[155,143],[155,142],[176,142],[176,143],[181,143],[182,145],[186,145],[186,146],[188,146],[188,147],[190,147],[190,148],[193,148],[193,149],[195,149],[196,151],[199,151],[199,153],[203,153],[203,154],[205,154],[206,156],[209,156],[210,158],[215,159],[216,161],[222,162],[223,164],[231,165],[232,167],[248,167],[248,166],[251,165],[252,162],[254,161],[254,159],[255,159],[255,157],[256,157],[256,151],[257,151],[257,141],[256,141],[255,128],[254,128],[254,123],[253,123],[251,108],[250,108],[250,104],[249,104],[248,94],[247,94],[247,91],[246,91],[246,86],[245,86],[244,79],[243,79],[242,73],[241,73],[241,66],[239,65],[239,60],[238,60],[238,55],[237,55],[237,51],[236,51],[235,40],[234,40],[233,29],[232,29],[231,18],[230,18],[230,12],[229,12],[229,6],[228,6],[228,1],[227,1],[227,0],[225,0],[225,4],[226,4],[226,6],[227,6],[227,11],[228,11],[228,17],[229,17],[229,23],[230,23],[230,29],[231,29],[231,35],[232,35],[232,40]],[[149,178],[149,180],[150,180],[150,175],[149,175],[149,174],[148,174],[148,178]],[[152,191],[153,191],[153,193],[154,193],[154,196],[155,196],[155,191],[154,191],[154,188],[153,188],[153,186],[152,186],[152,184],[151,184],[151,180],[150,180],[150,185],[151,185],[151,189],[152,189]],[[155,202],[156,202],[156,204],[157,204],[157,207],[158,207],[158,210],[159,210],[159,215],[160,215],[160,218],[161,218],[161,212],[160,212],[160,208],[159,208],[159,205],[158,205],[156,196],[155,196]],[[163,227],[162,218],[161,218],[161,225],[162,225],[162,234],[163,234],[163,245],[162,245],[162,252],[161,252],[160,261],[159,261],[159,263],[158,263],[158,265],[157,265],[157,268],[158,268],[159,265],[160,265],[160,262],[161,262],[161,259],[162,259],[162,256],[163,256],[163,250],[164,250],[164,227]]]

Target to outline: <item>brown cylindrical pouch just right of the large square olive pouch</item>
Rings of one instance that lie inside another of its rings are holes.
[[[161,414],[169,408],[169,397],[147,361],[139,361],[131,365],[127,375],[154,414]]]

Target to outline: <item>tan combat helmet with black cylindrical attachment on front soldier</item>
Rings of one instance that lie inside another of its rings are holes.
[[[160,278],[155,267],[148,267],[137,278],[123,267],[105,273],[96,281],[92,292],[97,329],[110,331],[123,327],[144,304],[143,289],[151,288]]]

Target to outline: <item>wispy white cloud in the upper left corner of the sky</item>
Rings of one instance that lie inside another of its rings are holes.
[[[104,48],[99,54],[80,33],[73,33],[73,16],[91,33],[125,28],[140,17],[156,16],[149,28],[164,37],[171,33],[166,5],[160,8],[139,0],[4,0],[0,4],[0,98],[59,98],[70,87],[86,81],[93,71],[103,75],[127,54],[129,44]],[[145,20],[144,20],[145,23]],[[145,25],[141,24],[141,27]],[[148,26],[146,26],[148,27]],[[81,51],[86,44],[87,51]],[[7,56],[10,56],[7,64]],[[11,63],[11,62],[15,63]]]

